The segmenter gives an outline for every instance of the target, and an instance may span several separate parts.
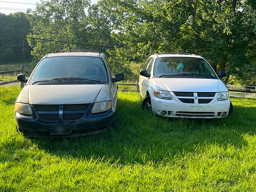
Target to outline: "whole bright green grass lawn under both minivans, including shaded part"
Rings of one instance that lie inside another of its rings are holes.
[[[117,129],[70,139],[16,132],[18,86],[0,88],[0,191],[256,191],[256,100],[224,119],[153,116],[118,93]]]

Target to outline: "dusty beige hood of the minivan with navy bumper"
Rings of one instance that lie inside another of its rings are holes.
[[[81,104],[106,101],[108,84],[26,85],[17,102],[30,104]]]

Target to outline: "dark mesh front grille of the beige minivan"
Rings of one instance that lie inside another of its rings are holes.
[[[63,120],[77,120],[86,112],[89,104],[71,104],[71,105],[34,105],[38,116],[42,120],[59,120],[59,110],[63,109]],[[61,106],[61,107],[60,107]],[[48,112],[48,113],[46,113]],[[80,112],[80,113],[79,113]],[[60,116],[61,117],[61,116]]]

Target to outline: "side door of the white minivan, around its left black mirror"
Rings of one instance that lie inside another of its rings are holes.
[[[147,70],[147,73],[151,73],[152,65],[153,65],[154,58],[148,57],[148,59],[145,61],[143,68],[144,70]],[[139,76],[139,87],[140,87],[140,94],[143,97],[146,97],[147,93],[147,87],[148,87],[149,81],[147,77],[144,77],[142,75]]]

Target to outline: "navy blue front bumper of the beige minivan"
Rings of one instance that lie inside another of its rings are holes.
[[[101,133],[108,129],[114,121],[115,113],[112,109],[83,116],[78,120],[71,121],[44,121],[37,117],[24,116],[15,112],[15,121],[18,131],[26,136],[33,137],[72,137],[84,136]],[[71,134],[68,135],[51,135],[51,125],[70,125]]]

